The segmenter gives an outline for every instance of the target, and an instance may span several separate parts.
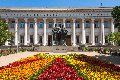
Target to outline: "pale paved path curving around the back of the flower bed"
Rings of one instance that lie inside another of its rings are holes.
[[[27,58],[27,57],[30,57],[30,56],[33,56],[33,55],[36,55],[39,53],[42,53],[42,52],[22,52],[22,53],[17,53],[17,54],[11,54],[8,56],[2,56],[2,57],[0,57],[0,67],[6,66],[9,63],[20,60],[21,58]],[[71,53],[75,53],[75,52],[68,52],[68,53],[52,53],[52,52],[50,52],[50,55],[66,55],[66,54],[71,54]],[[120,56],[110,56],[110,55],[105,55],[105,54],[99,54],[97,52],[76,52],[76,53],[93,56],[93,57],[96,57],[99,59],[104,59],[107,62],[112,62],[115,65],[120,66]]]

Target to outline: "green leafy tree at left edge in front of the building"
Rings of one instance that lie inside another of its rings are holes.
[[[5,44],[6,41],[9,41],[11,36],[13,36],[13,33],[8,31],[8,24],[0,19],[0,46]]]

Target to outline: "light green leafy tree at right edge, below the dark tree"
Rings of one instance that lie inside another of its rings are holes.
[[[117,43],[120,46],[120,32],[110,33],[108,35],[108,40],[110,44]]]

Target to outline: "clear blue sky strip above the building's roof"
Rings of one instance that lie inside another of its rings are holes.
[[[0,7],[113,7],[120,0],[0,0]]]

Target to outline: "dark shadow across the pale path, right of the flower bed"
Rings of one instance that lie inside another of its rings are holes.
[[[113,56],[113,55],[95,55],[93,56],[95,58],[101,59],[101,60],[105,60],[106,62],[112,62],[115,65],[119,65],[120,67],[120,56]]]

